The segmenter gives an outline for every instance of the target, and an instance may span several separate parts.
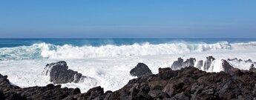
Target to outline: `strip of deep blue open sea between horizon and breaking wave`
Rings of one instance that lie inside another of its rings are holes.
[[[131,45],[148,42],[150,44],[163,44],[171,42],[188,42],[213,44],[220,41],[229,43],[256,41],[256,39],[0,39],[0,47],[30,46],[33,44],[47,43],[55,45],[71,44],[73,46],[101,46],[105,44]]]

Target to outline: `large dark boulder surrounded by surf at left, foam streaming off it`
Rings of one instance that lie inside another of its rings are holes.
[[[53,84],[78,83],[82,79],[87,78],[86,76],[82,76],[81,73],[69,70],[65,61],[47,64],[43,73],[50,76],[50,81]]]

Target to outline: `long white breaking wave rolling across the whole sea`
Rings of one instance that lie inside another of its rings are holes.
[[[226,50],[239,52],[255,52],[256,41],[246,43],[229,43],[227,41],[214,44],[207,43],[165,43],[165,44],[131,44],[114,45],[106,44],[98,47],[85,45],[82,47],[71,44],[33,44],[31,46],[2,47],[0,60],[19,59],[84,59],[93,57],[111,56],[147,56],[164,54],[221,52]]]

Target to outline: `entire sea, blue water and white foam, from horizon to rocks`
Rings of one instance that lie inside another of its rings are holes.
[[[86,92],[99,85],[118,90],[136,78],[129,71],[138,62],[157,73],[159,67],[170,67],[178,57],[199,61],[206,56],[217,59],[208,72],[220,72],[221,59],[256,61],[256,39],[0,39],[0,73],[20,87],[50,84],[49,76],[42,72],[54,61],[67,61],[71,70],[94,78],[62,84]],[[243,70],[252,64],[229,63]]]

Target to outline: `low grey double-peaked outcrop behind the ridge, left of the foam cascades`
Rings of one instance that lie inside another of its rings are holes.
[[[171,65],[171,69],[179,70],[182,67],[194,66],[195,61],[196,61],[196,59],[190,58],[183,62],[183,59],[178,58],[178,60],[174,61],[174,63]]]

